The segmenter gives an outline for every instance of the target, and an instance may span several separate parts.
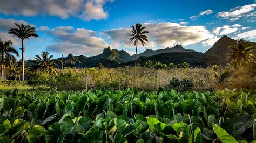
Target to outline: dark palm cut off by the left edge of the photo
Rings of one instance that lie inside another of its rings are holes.
[[[1,78],[4,79],[4,67],[5,63],[9,63],[6,65],[13,65],[12,63],[15,63],[17,60],[12,55],[15,54],[16,56],[19,56],[18,51],[12,46],[11,40],[3,42],[0,40],[0,48],[1,48]],[[4,61],[5,60],[5,61]]]

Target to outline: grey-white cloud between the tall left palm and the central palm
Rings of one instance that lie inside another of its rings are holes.
[[[87,56],[102,53],[103,49],[109,45],[100,37],[96,37],[96,32],[85,28],[71,26],[55,27],[51,30],[56,44],[46,47],[47,51],[65,54],[85,54]]]

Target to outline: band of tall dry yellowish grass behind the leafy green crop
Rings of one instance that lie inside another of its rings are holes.
[[[82,90],[86,88],[125,89],[137,87],[142,90],[157,90],[166,87],[172,78],[187,78],[195,90],[212,90],[215,71],[212,68],[154,69],[147,67],[123,67],[104,69],[64,69],[57,79],[57,88]]]

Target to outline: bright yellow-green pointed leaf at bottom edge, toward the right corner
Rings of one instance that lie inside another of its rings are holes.
[[[218,125],[213,125],[213,131],[217,135],[218,139],[223,143],[237,142],[234,137],[229,135],[224,129],[220,128]]]

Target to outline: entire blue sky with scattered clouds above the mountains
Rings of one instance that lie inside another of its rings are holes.
[[[256,0],[0,0],[0,38],[12,40],[21,55],[21,40],[8,34],[14,23],[35,27],[38,38],[24,42],[25,59],[42,51],[94,56],[104,48],[135,53],[126,33],[141,23],[149,31],[145,49],[177,44],[206,52],[223,35],[256,42]]]

